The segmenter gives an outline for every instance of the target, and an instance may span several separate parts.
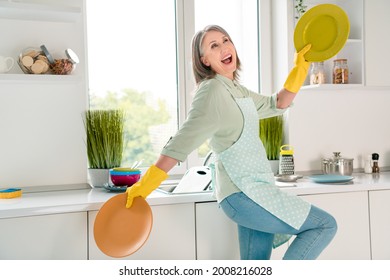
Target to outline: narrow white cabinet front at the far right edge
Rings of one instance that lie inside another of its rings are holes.
[[[390,260],[390,191],[370,191],[371,251],[373,260]]]

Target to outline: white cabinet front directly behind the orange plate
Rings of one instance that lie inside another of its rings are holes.
[[[153,228],[146,243],[134,254],[123,259],[194,260],[194,204],[151,206]],[[89,259],[112,259],[100,251],[93,237],[97,211],[89,212]]]

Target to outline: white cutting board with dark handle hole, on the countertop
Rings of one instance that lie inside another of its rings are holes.
[[[184,174],[172,193],[201,192],[211,182],[211,170],[208,166],[191,167]]]

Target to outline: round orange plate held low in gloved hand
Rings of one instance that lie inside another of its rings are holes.
[[[126,208],[127,193],[118,194],[103,204],[93,228],[95,242],[106,255],[122,258],[136,252],[149,237],[152,210],[142,197]]]

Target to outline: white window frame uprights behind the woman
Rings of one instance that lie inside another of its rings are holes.
[[[183,124],[192,102],[195,81],[191,65],[191,39],[195,30],[195,0],[175,0],[176,2],[176,30],[177,30],[177,84],[178,84],[178,110],[179,127]],[[258,44],[258,80],[259,92],[272,93],[272,51],[271,51],[271,1],[257,0],[257,30]],[[186,161],[174,167],[170,174],[184,174],[192,167],[203,165],[203,159],[197,156],[197,151],[188,155]]]

